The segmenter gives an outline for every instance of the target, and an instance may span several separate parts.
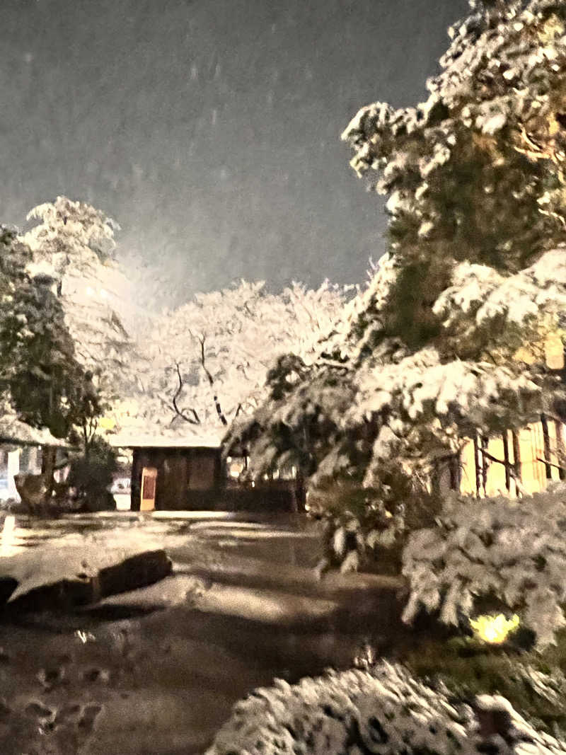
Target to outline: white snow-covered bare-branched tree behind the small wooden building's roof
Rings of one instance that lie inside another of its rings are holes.
[[[242,281],[155,317],[137,362],[140,390],[116,408],[118,424],[125,431],[221,435],[257,408],[278,356],[312,357],[347,293],[325,282],[317,290],[294,283],[269,294],[263,282]]]

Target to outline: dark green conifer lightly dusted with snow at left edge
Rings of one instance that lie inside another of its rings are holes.
[[[50,445],[95,421],[100,407],[91,377],[78,361],[60,297],[51,278],[32,277],[33,254],[16,233],[0,227],[0,393],[2,421]],[[51,433],[51,434],[50,434]],[[55,448],[44,448],[42,490],[54,490]]]

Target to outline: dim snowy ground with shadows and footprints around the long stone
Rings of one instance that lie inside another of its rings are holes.
[[[20,569],[35,584],[42,570],[51,579],[81,557],[105,564],[156,547],[174,572],[151,587],[65,615],[5,612],[0,752],[199,753],[254,687],[347,667],[367,639],[379,646],[396,631],[396,608],[380,595],[395,581],[331,576],[319,584],[310,570],[318,533],[297,518],[8,519],[0,575]]]

